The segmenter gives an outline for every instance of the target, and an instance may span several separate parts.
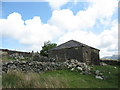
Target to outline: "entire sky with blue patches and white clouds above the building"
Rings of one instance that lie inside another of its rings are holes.
[[[100,49],[100,57],[117,54],[118,0],[38,1],[1,2],[0,48],[40,51],[46,41],[72,39]]]

